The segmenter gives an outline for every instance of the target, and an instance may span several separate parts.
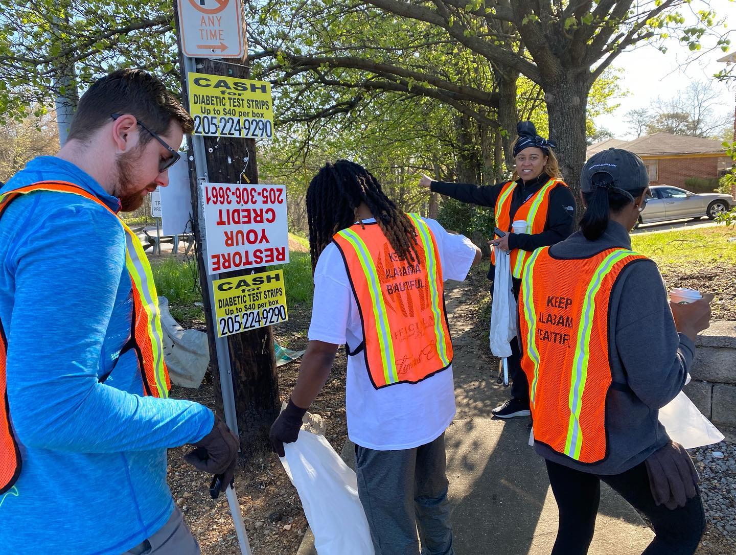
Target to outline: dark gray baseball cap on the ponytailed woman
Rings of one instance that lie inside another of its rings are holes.
[[[595,174],[608,174],[616,188],[634,191],[649,185],[646,166],[634,152],[610,148],[592,155],[580,172],[580,190],[590,193],[593,190],[592,177]]]

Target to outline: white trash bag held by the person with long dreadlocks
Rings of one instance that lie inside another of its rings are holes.
[[[280,459],[297,488],[319,555],[374,555],[355,472],[325,436],[300,430]]]

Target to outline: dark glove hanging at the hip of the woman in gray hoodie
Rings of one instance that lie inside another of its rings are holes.
[[[654,502],[668,509],[684,507],[698,495],[698,471],[679,443],[670,441],[645,460]]]

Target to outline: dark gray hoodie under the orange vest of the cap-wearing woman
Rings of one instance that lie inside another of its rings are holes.
[[[550,253],[556,258],[584,258],[612,247],[631,249],[629,233],[616,222],[610,222],[596,241],[577,231],[550,247]],[[684,386],[695,353],[695,344],[675,329],[665,283],[654,261],[623,269],[611,291],[609,312],[613,382],[626,383],[629,389],[610,389],[606,399],[606,459],[581,464],[539,442],[534,445],[552,462],[606,475],[637,466],[669,441],[658,420],[659,409]]]

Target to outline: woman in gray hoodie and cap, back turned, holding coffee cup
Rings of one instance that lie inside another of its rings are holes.
[[[524,267],[519,338],[534,449],[559,507],[553,555],[587,554],[601,480],[651,521],[646,555],[692,555],[704,532],[695,467],[658,411],[685,383],[713,297],[670,304],[657,265],[631,251],[648,185],[637,155],[594,155],[581,229]]]

